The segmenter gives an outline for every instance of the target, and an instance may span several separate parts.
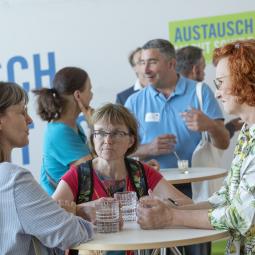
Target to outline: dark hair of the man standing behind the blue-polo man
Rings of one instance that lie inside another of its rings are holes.
[[[192,67],[197,65],[203,56],[203,50],[196,46],[186,46],[176,51],[176,71],[187,76]]]

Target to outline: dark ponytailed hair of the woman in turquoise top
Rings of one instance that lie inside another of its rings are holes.
[[[71,95],[76,90],[83,91],[87,79],[88,74],[85,70],[78,67],[64,67],[56,73],[52,82],[52,89],[33,90],[38,96],[37,113],[42,120],[49,122],[59,119],[67,105],[64,96]]]

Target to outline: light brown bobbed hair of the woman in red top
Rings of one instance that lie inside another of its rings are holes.
[[[136,151],[139,143],[138,124],[134,115],[126,107],[121,104],[105,104],[94,111],[91,118],[91,125],[93,126],[98,121],[125,125],[129,131],[129,134],[134,137],[134,144],[127,150],[125,156],[128,156]],[[90,136],[90,144],[92,146],[93,153],[95,153],[93,134]]]

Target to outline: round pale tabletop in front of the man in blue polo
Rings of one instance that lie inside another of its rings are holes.
[[[181,173],[178,168],[160,169],[163,177],[172,184],[183,184],[217,179],[227,175],[228,170],[217,167],[189,167],[188,173]]]

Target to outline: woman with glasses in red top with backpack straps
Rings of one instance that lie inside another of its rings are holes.
[[[138,131],[135,118],[124,106],[104,105],[93,113],[91,123],[93,134],[90,141],[96,155],[87,163],[91,176],[84,182],[86,176],[81,169],[85,169],[85,165],[72,166],[53,194],[55,200],[80,204],[101,197],[113,197],[119,191],[136,191],[139,198],[151,190],[154,195],[170,198],[170,201],[180,205],[192,203],[158,171],[128,158],[138,146]],[[87,188],[90,182],[92,190]],[[90,191],[91,194],[88,194]]]

